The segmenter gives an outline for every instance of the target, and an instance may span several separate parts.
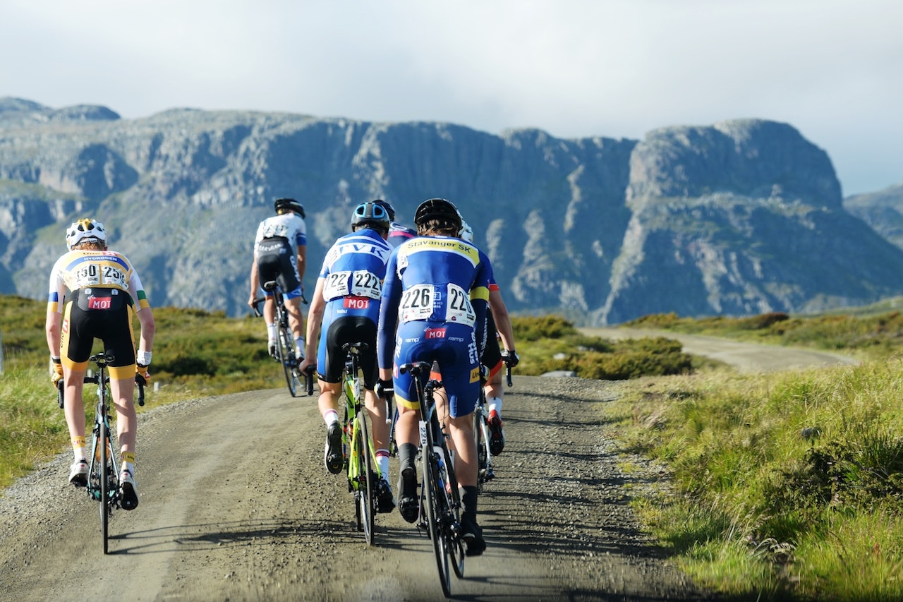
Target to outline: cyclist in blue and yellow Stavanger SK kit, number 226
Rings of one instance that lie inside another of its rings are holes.
[[[461,535],[468,555],[474,556],[486,549],[477,523],[478,461],[472,414],[479,396],[479,356],[490,268],[479,249],[458,238],[461,215],[452,202],[422,202],[414,214],[414,224],[418,236],[403,243],[389,258],[379,312],[378,386],[394,389],[399,411],[398,508],[405,521],[417,520],[416,383],[409,372],[399,373],[398,366],[435,361],[443,383],[442,390],[436,391],[436,411],[452,434],[455,473],[464,506]]]

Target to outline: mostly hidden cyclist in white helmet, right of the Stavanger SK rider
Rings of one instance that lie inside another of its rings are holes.
[[[473,229],[466,221],[462,222],[461,240],[473,242]],[[498,341],[505,347],[503,352]],[[502,428],[502,365],[514,368],[520,362],[514,348],[514,329],[507,312],[505,300],[495,281],[495,275],[489,281],[489,313],[486,315],[486,349],[480,361],[489,369],[489,377],[483,391],[489,405],[489,452],[498,456],[505,450],[505,429]]]

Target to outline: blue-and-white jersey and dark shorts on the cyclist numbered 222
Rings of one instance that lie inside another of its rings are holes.
[[[322,381],[339,382],[345,365],[344,343],[368,343],[360,355],[364,385],[377,378],[377,319],[386,261],[392,253],[376,230],[364,228],[336,240],[320,269],[323,310],[317,372]]]

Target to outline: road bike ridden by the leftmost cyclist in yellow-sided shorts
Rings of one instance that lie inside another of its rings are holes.
[[[110,353],[96,353],[88,358],[98,366],[98,372],[85,376],[85,382],[97,385],[98,404],[94,412],[94,428],[92,429],[91,461],[88,466],[88,497],[99,502],[100,531],[103,536],[104,553],[108,551],[109,521],[113,511],[120,508],[121,491],[119,489],[119,464],[113,450],[118,449],[116,433],[110,428],[109,419],[109,376],[107,366],[116,358]],[[135,374],[138,386],[138,405],[144,405],[144,377]],[[63,382],[57,382],[57,401],[63,407]]]

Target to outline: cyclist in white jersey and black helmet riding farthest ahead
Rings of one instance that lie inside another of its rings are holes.
[[[307,235],[304,225],[304,208],[294,199],[276,199],[276,214],[260,222],[254,240],[254,261],[251,263],[251,296],[247,305],[254,306],[261,283],[279,282],[288,310],[292,328],[295,356],[304,357],[304,315],[301,297],[304,294],[304,268],[307,258]],[[266,323],[266,347],[276,357],[276,308],[273,294],[265,292],[264,321]]]

